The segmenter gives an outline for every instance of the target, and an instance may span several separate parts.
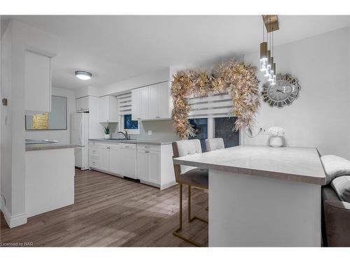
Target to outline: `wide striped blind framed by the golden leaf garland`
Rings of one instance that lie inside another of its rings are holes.
[[[188,118],[228,117],[232,112],[232,99],[228,92],[209,94],[202,97],[188,97],[191,107]]]

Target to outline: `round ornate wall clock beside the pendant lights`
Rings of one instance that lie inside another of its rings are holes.
[[[276,85],[266,82],[262,85],[262,99],[269,106],[283,108],[290,105],[299,96],[300,85],[291,75],[276,75]]]

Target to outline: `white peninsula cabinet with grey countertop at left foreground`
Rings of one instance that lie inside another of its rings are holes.
[[[74,203],[74,147],[26,141],[27,217]]]

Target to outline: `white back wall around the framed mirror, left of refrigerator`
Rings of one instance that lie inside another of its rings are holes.
[[[59,87],[52,87],[52,96],[64,96],[67,98],[67,129],[66,130],[26,130],[25,138],[34,140],[58,140],[60,143],[71,143],[71,113],[76,111],[74,91]]]

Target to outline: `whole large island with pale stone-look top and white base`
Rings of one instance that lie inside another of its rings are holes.
[[[209,169],[209,246],[321,246],[316,148],[238,146],[174,163]]]

